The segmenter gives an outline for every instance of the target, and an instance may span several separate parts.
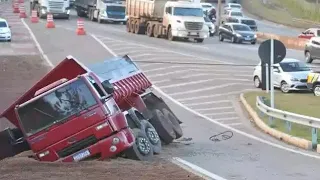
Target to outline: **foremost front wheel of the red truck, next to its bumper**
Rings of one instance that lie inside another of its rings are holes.
[[[132,147],[125,150],[129,159],[149,161],[153,158],[153,150],[148,137],[140,129],[132,129],[135,142]]]

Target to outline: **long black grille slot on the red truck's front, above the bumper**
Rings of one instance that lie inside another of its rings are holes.
[[[63,157],[66,157],[66,156],[69,156],[75,152],[78,152],[86,147],[89,147],[93,144],[95,144],[96,142],[98,142],[97,138],[95,136],[89,136],[85,139],[82,139],[81,141],[78,141],[60,151],[58,151],[58,155],[60,158],[63,158]]]

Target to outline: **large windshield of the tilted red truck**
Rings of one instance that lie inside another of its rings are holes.
[[[97,104],[88,86],[78,79],[18,109],[20,123],[31,136]]]

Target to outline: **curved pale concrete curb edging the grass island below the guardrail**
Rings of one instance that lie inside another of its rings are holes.
[[[312,149],[312,143],[309,140],[298,138],[291,136],[289,134],[280,132],[276,129],[270,128],[268,125],[266,125],[258,116],[257,112],[253,110],[253,108],[249,105],[247,100],[244,98],[243,93],[240,94],[240,100],[244,107],[246,108],[249,115],[252,117],[254,123],[266,134],[270,134],[271,136],[284,141],[288,144],[300,147],[302,149],[311,150]],[[317,151],[320,152],[320,145],[317,146]]]

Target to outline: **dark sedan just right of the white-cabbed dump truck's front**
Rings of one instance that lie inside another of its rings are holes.
[[[233,43],[250,42],[256,44],[257,35],[249,26],[240,23],[225,23],[219,27],[219,40],[229,39]]]

